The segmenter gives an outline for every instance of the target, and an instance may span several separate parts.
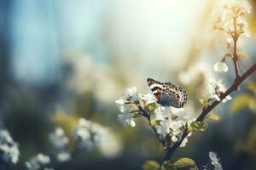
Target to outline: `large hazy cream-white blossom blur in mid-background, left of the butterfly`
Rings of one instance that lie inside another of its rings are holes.
[[[115,70],[108,65],[100,65],[87,54],[67,53],[63,68],[71,68],[72,76],[67,77],[67,88],[78,94],[92,93],[103,102],[113,101],[119,92]]]

